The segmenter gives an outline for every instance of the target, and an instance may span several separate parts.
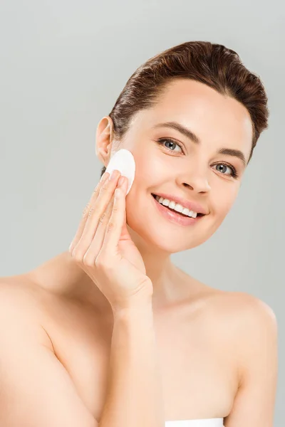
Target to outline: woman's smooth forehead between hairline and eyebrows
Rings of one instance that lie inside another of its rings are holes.
[[[177,121],[195,132],[203,142],[239,148],[249,156],[252,120],[240,102],[217,93],[195,80],[172,80],[157,105],[143,110],[133,125],[150,129],[160,122]]]

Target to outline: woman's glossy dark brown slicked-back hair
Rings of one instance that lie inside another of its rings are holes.
[[[237,52],[209,41],[187,41],[140,65],[109,114],[113,120],[113,137],[123,139],[135,113],[159,102],[159,95],[175,78],[197,80],[222,95],[233,97],[247,108],[253,129],[250,160],[259,135],[268,127],[269,110],[264,85],[258,75],[243,65]],[[101,176],[105,169],[102,168]]]

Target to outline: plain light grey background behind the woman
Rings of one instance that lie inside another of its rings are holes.
[[[1,276],[68,249],[100,175],[98,121],[147,58],[185,41],[211,41],[237,51],[261,76],[269,130],[237,201],[209,241],[172,259],[207,285],[249,292],[274,310],[276,427],[284,424],[285,386],[283,8],[281,0],[0,4]]]

